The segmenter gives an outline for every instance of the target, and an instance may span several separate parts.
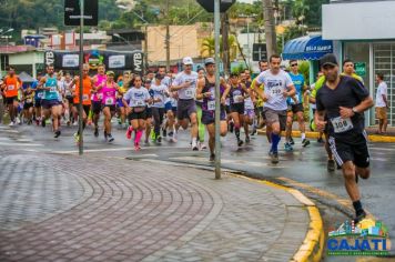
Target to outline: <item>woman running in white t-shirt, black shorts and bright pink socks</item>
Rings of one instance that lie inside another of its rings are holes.
[[[150,81],[150,80],[148,80]],[[132,88],[123,95],[123,103],[128,107],[130,112],[128,119],[130,121],[131,128],[128,131],[135,131],[134,135],[134,150],[139,151],[140,140],[145,130],[145,119],[146,119],[146,105],[152,103],[149,91],[142,88],[141,77],[134,77],[132,81]],[[129,103],[126,102],[129,101]],[[126,135],[129,139],[131,135]]]

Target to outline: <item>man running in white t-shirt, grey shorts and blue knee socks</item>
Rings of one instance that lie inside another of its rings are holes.
[[[273,54],[270,58],[270,70],[262,72],[257,79],[257,84],[264,84],[264,91],[256,89],[256,92],[264,101],[263,112],[266,124],[271,127],[272,147],[270,155],[272,163],[278,163],[278,143],[281,131],[286,124],[286,98],[295,94],[295,87],[290,74],[280,69],[281,57]]]

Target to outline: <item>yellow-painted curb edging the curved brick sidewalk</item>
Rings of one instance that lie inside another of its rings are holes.
[[[313,203],[313,201],[311,201],[307,196],[305,196],[301,191],[296,189],[290,189],[284,185],[280,185],[265,180],[252,179],[245,175],[232,174],[232,173],[230,174],[236,178],[242,178],[261,184],[265,184],[267,187],[285,190],[288,193],[291,193],[296,200],[303,203],[308,210],[308,215],[310,215],[308,231],[306,233],[306,236],[302,245],[290,261],[293,262],[321,261],[321,258],[323,255],[323,250],[324,250],[325,234],[324,234],[323,221],[320,211],[316,208],[315,203]]]

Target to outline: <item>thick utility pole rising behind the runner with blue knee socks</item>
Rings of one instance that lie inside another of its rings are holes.
[[[277,53],[276,33],[274,24],[274,9],[272,0],[262,0],[262,3],[263,16],[265,19],[267,58],[270,58],[272,54]]]

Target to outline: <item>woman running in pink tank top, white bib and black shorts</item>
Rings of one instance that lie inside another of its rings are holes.
[[[107,80],[102,82],[97,91],[102,93],[102,111],[104,114],[104,139],[108,142],[113,142],[114,138],[111,134],[111,119],[114,117],[117,108],[117,92],[119,87],[114,81],[115,73],[113,71],[107,72]],[[95,127],[97,129],[97,127]]]

